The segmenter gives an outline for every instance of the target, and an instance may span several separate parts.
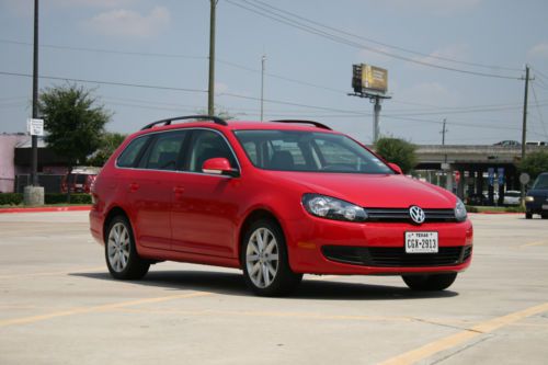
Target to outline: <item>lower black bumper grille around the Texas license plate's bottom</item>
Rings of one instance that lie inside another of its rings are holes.
[[[404,248],[324,246],[332,261],[376,267],[453,266],[470,259],[472,247],[441,247],[437,253],[406,253]]]

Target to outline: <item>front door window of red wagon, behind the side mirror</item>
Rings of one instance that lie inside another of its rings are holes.
[[[216,157],[228,159],[232,168],[238,167],[230,147],[220,134],[207,129],[195,130],[191,148],[189,171],[202,172],[204,162]]]

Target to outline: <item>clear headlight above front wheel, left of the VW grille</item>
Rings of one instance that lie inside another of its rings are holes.
[[[313,216],[347,221],[364,221],[367,213],[357,205],[334,197],[305,194],[302,195],[305,209]]]

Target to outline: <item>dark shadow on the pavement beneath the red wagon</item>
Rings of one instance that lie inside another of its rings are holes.
[[[93,280],[117,282],[105,273],[71,273]],[[122,282],[121,282],[122,283]],[[209,271],[151,271],[139,281],[130,283],[142,286],[164,287],[172,290],[192,289],[230,296],[253,296],[247,287],[242,274]],[[279,299],[322,299],[322,300],[398,300],[449,298],[457,296],[453,290],[415,292],[407,286],[388,286],[363,283],[349,283],[334,280],[305,280],[287,297]]]

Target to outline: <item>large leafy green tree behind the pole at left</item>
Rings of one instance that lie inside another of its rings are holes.
[[[78,163],[101,146],[104,126],[111,113],[98,105],[90,90],[76,84],[45,89],[39,96],[46,142],[54,152],[67,159],[68,176]],[[68,201],[70,202],[70,189]]]

